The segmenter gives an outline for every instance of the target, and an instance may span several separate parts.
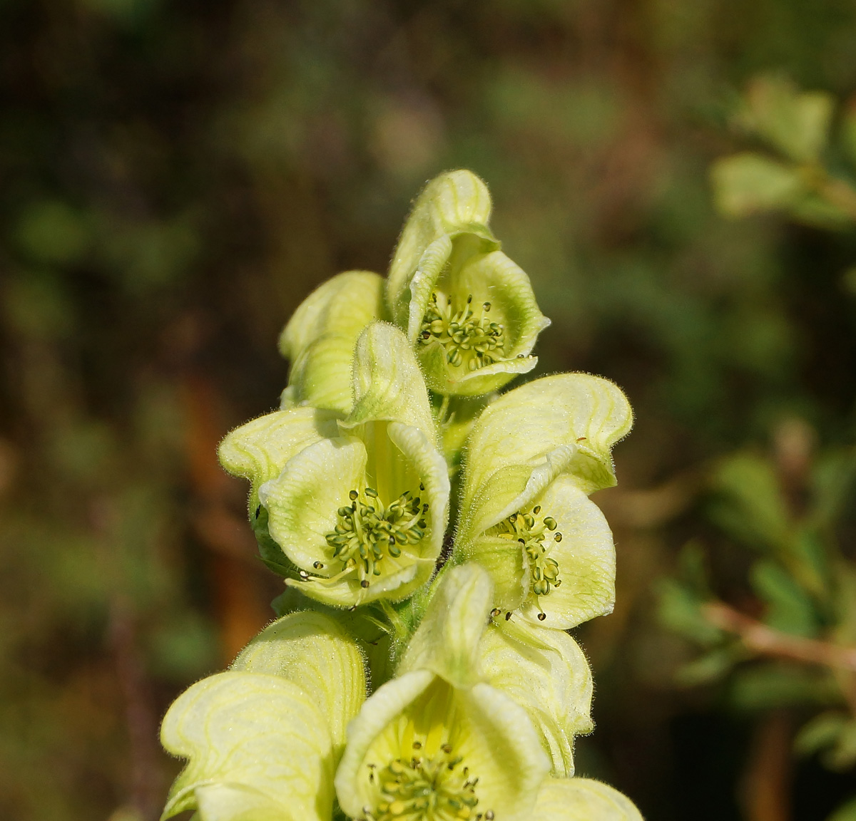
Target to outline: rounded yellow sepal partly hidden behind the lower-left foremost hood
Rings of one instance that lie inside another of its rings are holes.
[[[282,676],[311,694],[330,724],[336,759],[345,728],[366,700],[366,671],[356,641],[324,613],[300,611],[269,624],[232,670]]]

